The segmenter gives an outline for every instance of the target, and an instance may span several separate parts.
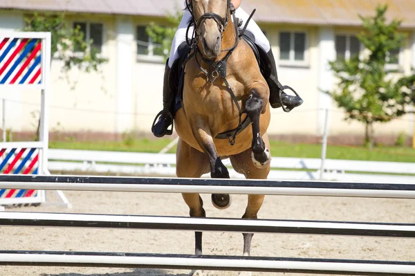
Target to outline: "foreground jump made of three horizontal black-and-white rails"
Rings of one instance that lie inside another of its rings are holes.
[[[415,184],[319,181],[252,181],[200,178],[127,178],[104,176],[0,176],[0,188],[114,192],[201,192],[302,194],[415,198]],[[398,194],[397,194],[398,193]],[[131,223],[131,224],[130,224]],[[0,213],[0,224],[14,227],[82,227],[226,232],[289,232],[372,237],[414,237],[414,224],[344,221],[275,221],[185,217],[114,216],[109,214]],[[261,271],[328,275],[414,275],[409,261],[304,259],[281,257],[146,254],[124,252],[0,251],[0,266],[89,266]]]

